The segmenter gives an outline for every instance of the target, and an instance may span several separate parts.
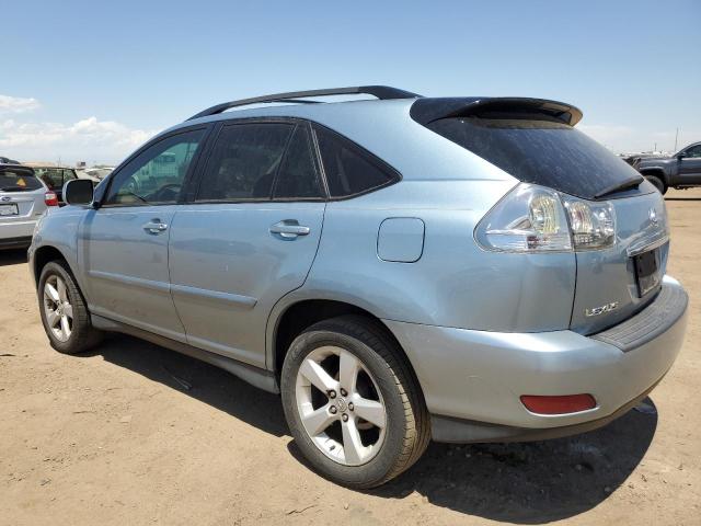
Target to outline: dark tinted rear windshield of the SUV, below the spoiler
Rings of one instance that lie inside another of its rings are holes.
[[[522,182],[587,199],[640,178],[597,141],[562,123],[451,117],[426,126]]]

